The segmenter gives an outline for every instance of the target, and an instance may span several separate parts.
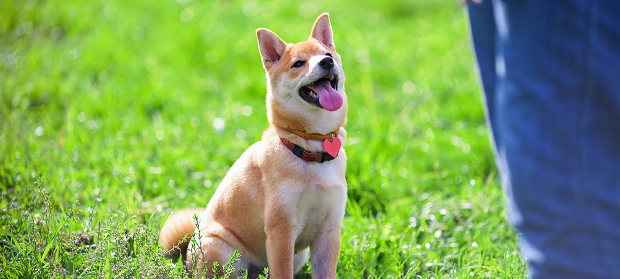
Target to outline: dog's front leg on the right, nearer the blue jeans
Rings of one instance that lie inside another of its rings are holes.
[[[312,279],[335,279],[340,255],[340,226],[335,226],[312,242]]]

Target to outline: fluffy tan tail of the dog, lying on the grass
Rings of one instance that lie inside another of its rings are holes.
[[[179,255],[185,260],[187,246],[191,241],[190,233],[195,231],[196,224],[193,215],[200,216],[204,210],[187,209],[174,212],[168,216],[166,223],[159,232],[159,245],[166,247],[169,257],[174,262]]]

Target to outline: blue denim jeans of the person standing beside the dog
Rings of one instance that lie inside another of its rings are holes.
[[[531,278],[620,278],[620,1],[467,9]]]

